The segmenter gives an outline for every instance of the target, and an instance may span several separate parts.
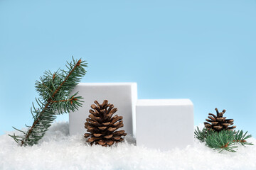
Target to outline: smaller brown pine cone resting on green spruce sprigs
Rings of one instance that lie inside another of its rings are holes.
[[[230,126],[234,124],[233,119],[226,119],[226,117],[223,117],[225,110],[219,113],[218,109],[215,108],[215,111],[216,115],[213,115],[213,113],[209,113],[209,119],[206,119],[207,122],[204,123],[205,127],[208,130],[220,132],[221,130],[233,130],[236,128],[236,126]]]

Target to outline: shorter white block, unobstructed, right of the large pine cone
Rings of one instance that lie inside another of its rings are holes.
[[[193,145],[193,103],[189,99],[138,100],[137,146],[168,150]]]

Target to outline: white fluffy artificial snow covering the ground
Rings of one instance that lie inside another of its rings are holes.
[[[256,140],[248,141],[254,145],[220,154],[196,139],[193,147],[168,152],[136,147],[129,136],[112,147],[91,147],[81,135],[68,135],[68,123],[54,123],[33,147],[19,147],[1,135],[0,169],[256,169]]]

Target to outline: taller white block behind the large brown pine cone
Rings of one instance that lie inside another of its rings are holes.
[[[134,123],[132,115],[135,116],[137,103],[137,83],[80,83],[75,86],[73,93],[79,91],[78,96],[82,96],[82,107],[74,113],[69,114],[70,135],[84,135],[86,132],[85,122],[88,118],[90,106],[94,101],[102,103],[107,100],[117,108],[115,114],[123,116],[124,127],[127,134],[133,134]]]

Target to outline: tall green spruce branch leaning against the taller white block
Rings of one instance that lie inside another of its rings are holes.
[[[32,103],[33,125],[27,126],[27,132],[18,130],[23,132],[24,136],[9,135],[21,146],[37,144],[55,120],[56,114],[75,111],[82,106],[82,97],[77,96],[78,92],[73,96],[70,96],[70,92],[85,75],[87,63],[73,58],[72,62],[67,62],[66,67],[68,71],[46,71],[43,77],[40,77],[40,81],[36,81],[36,91],[41,97],[36,98],[39,108]]]

